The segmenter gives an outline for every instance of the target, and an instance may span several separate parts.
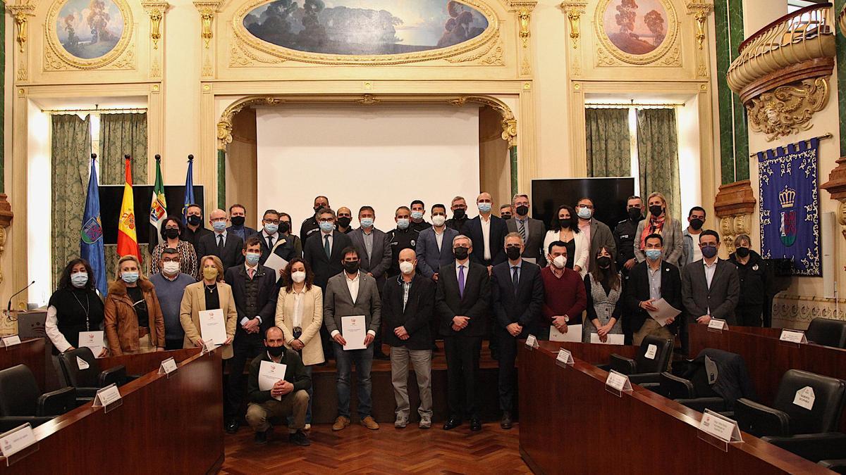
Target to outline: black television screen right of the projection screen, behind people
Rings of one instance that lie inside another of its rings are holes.
[[[626,219],[626,201],[633,194],[633,177],[536,179],[531,182],[532,216],[549,227],[559,205],[575,208],[587,197],[593,200],[596,219],[613,231]]]

